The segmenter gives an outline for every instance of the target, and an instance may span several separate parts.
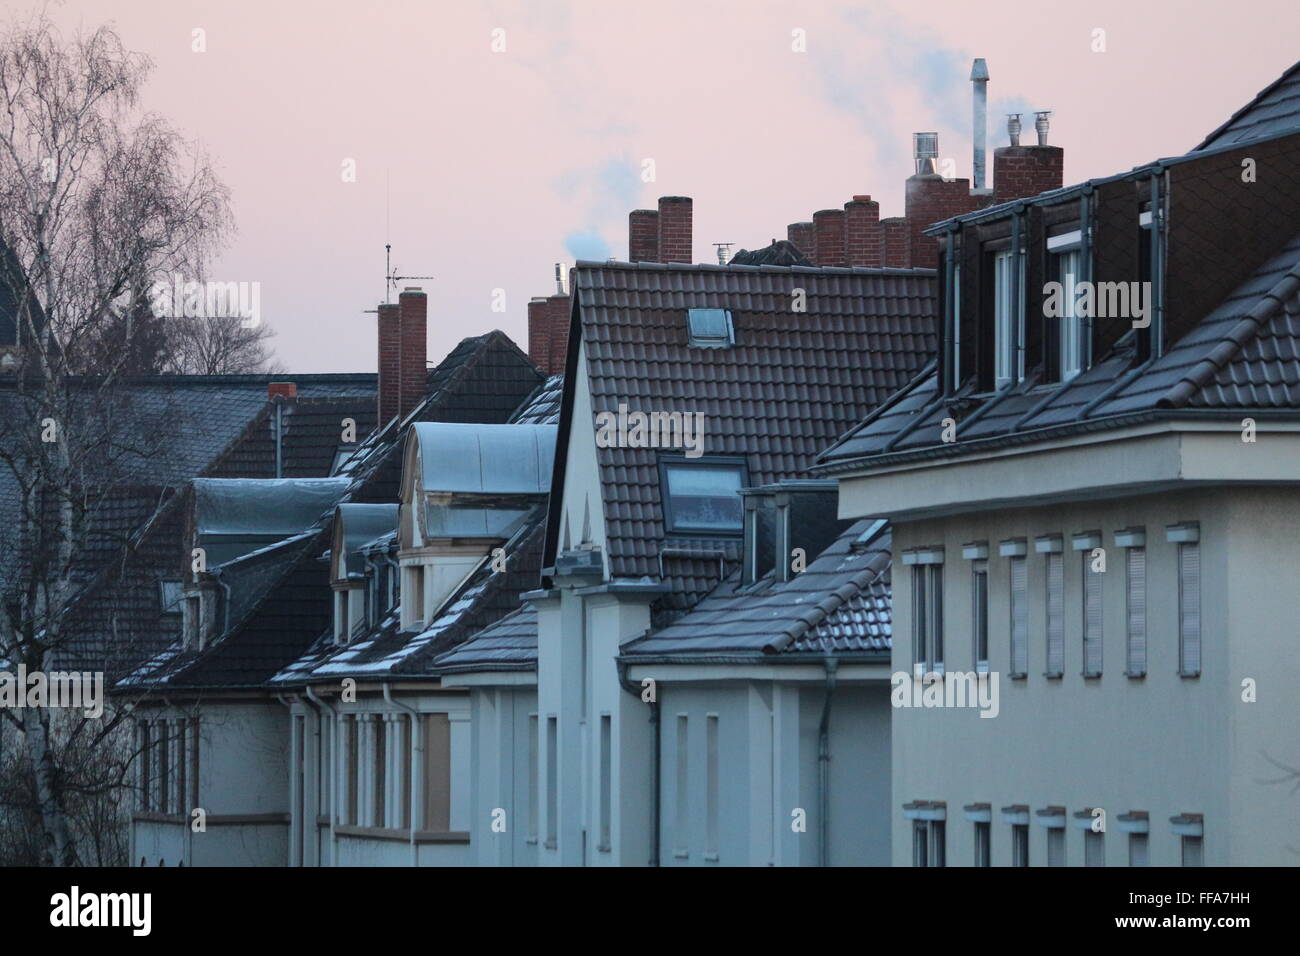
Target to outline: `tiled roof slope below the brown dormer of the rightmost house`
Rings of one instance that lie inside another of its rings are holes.
[[[1034,380],[985,401],[958,419],[956,442],[942,442],[953,407],[937,397],[937,377],[919,377],[850,431],[819,459],[827,470],[863,458],[959,455],[988,442],[1126,424],[1134,418],[1186,418],[1251,410],[1300,408],[1300,235],[1288,242],[1160,359],[1134,371],[1126,339],[1058,388]],[[958,412],[959,414],[959,412]]]

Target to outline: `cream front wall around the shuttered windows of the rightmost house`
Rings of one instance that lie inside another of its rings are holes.
[[[945,663],[948,670],[974,669],[971,648],[971,570],[961,557],[963,542],[987,540],[989,568],[989,657],[1000,672],[1000,713],[980,718],[975,709],[893,709],[893,861],[910,865],[911,830],[902,804],[944,800],[948,804],[948,862],[970,865],[974,827],[962,806],[993,806],[993,865],[1010,862],[1010,827],[998,810],[1028,804],[1032,810],[1063,805],[1069,813],[1100,806],[1108,813],[1106,864],[1127,865],[1127,838],[1117,817],[1127,810],[1150,814],[1152,865],[1178,865],[1179,842],[1169,818],[1179,813],[1205,814],[1206,865],[1258,862],[1258,849],[1234,842],[1234,830],[1265,827],[1245,823],[1253,812],[1230,801],[1238,792],[1239,752],[1245,741],[1232,739],[1238,726],[1230,646],[1257,640],[1254,615],[1230,618],[1258,585],[1243,581],[1247,563],[1240,554],[1249,529],[1239,527],[1238,492],[1195,490],[1097,503],[1009,509],[949,519],[905,522],[894,527],[893,667],[911,665],[910,568],[897,561],[909,548],[944,545]],[[1178,675],[1176,545],[1165,540],[1165,525],[1199,520],[1202,559],[1202,671],[1200,678]],[[1126,602],[1124,553],[1114,531],[1147,528],[1148,674],[1124,676]],[[1108,570],[1104,578],[1104,662],[1100,679],[1082,671],[1082,553],[1070,550],[1070,535],[1101,529]],[[1244,535],[1243,535],[1244,532]],[[1034,553],[1040,535],[1065,536],[1065,676],[1048,680],[1044,670],[1044,566]],[[1030,667],[1024,680],[1008,680],[1009,559],[998,557],[998,541],[1027,537],[1030,593]],[[1230,562],[1230,555],[1232,561]],[[1240,561],[1238,557],[1240,555]],[[1232,571],[1230,574],[1230,564]],[[1231,587],[1226,583],[1231,583]],[[1238,594],[1242,600],[1234,600]],[[1277,614],[1280,597],[1270,613]],[[1288,693],[1296,701],[1294,685]],[[1262,715],[1264,711],[1256,711]],[[1295,710],[1292,713],[1296,713]],[[1072,817],[1069,821],[1072,823]],[[1265,827],[1269,829],[1269,827]],[[1031,813],[1031,864],[1045,864],[1045,830]],[[1274,858],[1274,855],[1266,855]],[[1067,860],[1082,864],[1082,831],[1067,831]]]

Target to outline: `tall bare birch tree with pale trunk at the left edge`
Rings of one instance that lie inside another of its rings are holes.
[[[0,33],[0,299],[17,321],[0,415],[0,497],[16,509],[5,538],[17,542],[0,555],[0,659],[29,672],[57,666],[104,502],[165,438],[116,389],[129,350],[87,356],[109,323],[131,338],[133,291],[202,276],[230,228],[202,153],[138,109],[150,69],[107,26],[65,40],[42,13]],[[121,714],[78,724],[66,745],[47,708],[0,717],[21,732],[14,766],[30,774],[43,856],[79,862],[77,767]]]

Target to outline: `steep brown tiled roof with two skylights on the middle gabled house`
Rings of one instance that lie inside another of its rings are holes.
[[[806,290],[806,312],[792,293]],[[802,476],[818,453],[906,385],[936,347],[932,269],[578,263],[576,320],[593,411],[705,414],[705,453],[745,457],[749,484]],[[686,310],[732,312],[736,345],[693,349]],[[573,336],[572,339],[576,339]],[[576,349],[569,351],[576,371]],[[571,415],[566,397],[566,415]],[[576,425],[575,427],[580,427]],[[588,425],[594,428],[594,421]],[[556,484],[563,481],[560,425]],[[611,574],[659,578],[666,546],[656,449],[598,447]],[[560,528],[551,515],[554,557]],[[696,550],[719,540],[673,540]],[[734,542],[724,545],[734,550]],[[684,610],[719,580],[718,559],[671,558],[656,609]]]

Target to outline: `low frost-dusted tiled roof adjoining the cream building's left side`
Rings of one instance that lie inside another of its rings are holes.
[[[688,614],[625,644],[621,657],[780,662],[888,653],[889,540],[885,522],[864,519],[788,581],[768,575],[742,588],[733,574]]]

